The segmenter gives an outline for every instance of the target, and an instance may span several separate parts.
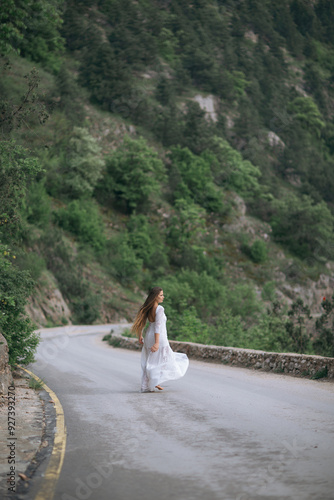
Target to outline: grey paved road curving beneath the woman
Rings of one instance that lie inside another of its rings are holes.
[[[55,500],[334,499],[333,383],[191,361],[141,394],[108,329],[48,330],[31,366],[65,412]]]

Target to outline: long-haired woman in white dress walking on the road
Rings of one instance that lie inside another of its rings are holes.
[[[152,288],[132,326],[132,331],[143,344],[141,392],[154,392],[155,387],[162,391],[160,384],[183,377],[189,366],[186,354],[175,353],[170,348],[166,329],[167,318],[164,308],[160,305],[163,300],[162,288]],[[150,325],[143,340],[142,332],[147,320]]]

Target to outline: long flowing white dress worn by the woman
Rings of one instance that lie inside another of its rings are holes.
[[[166,315],[159,304],[155,311],[155,321],[150,322],[144,338],[141,352],[141,392],[153,391],[156,385],[167,380],[183,377],[189,366],[186,354],[173,352],[167,338]],[[159,349],[151,351],[155,344],[155,333],[159,333]]]

